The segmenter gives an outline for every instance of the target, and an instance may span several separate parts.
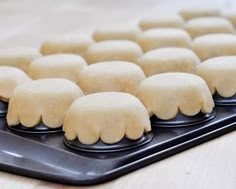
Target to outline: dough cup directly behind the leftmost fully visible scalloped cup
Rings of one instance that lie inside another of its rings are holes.
[[[35,59],[28,70],[32,79],[64,78],[75,83],[79,73],[86,66],[85,60],[79,55],[55,54]]]

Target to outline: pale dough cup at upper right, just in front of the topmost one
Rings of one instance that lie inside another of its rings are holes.
[[[194,18],[185,23],[185,30],[192,38],[210,33],[233,33],[233,24],[225,18],[202,17]]]

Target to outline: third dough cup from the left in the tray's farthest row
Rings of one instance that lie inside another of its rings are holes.
[[[106,40],[130,40],[137,41],[141,30],[139,28],[111,28],[99,29],[94,32],[93,38],[95,41]]]

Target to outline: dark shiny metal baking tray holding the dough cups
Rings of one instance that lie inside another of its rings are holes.
[[[63,184],[102,183],[235,130],[236,106],[217,106],[211,119],[190,126],[159,127],[155,118],[152,124],[152,134],[148,134],[152,140],[142,145],[106,152],[99,151],[104,147],[99,142],[99,148],[88,152],[86,148],[78,151],[67,147],[62,132],[27,134],[9,130],[2,116],[0,169]]]

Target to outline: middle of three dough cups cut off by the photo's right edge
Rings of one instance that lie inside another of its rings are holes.
[[[193,40],[192,49],[202,61],[217,56],[236,55],[236,35],[203,35]]]

